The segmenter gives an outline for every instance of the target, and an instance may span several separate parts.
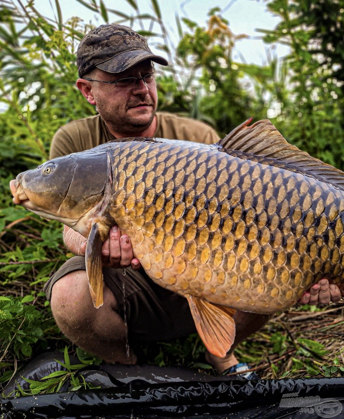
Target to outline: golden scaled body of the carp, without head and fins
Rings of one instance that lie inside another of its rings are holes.
[[[111,215],[158,285],[274,313],[323,277],[343,284],[338,189],[199,144],[141,144],[131,153],[115,158]]]

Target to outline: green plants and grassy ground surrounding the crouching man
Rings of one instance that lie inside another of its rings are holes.
[[[281,22],[273,31],[261,30],[264,40],[288,44],[290,54],[283,60],[270,57],[264,66],[234,62],[233,47],[244,35],[231,32],[219,8],[210,10],[206,27],[182,19],[183,31],[177,17],[180,42],[172,48],[156,0],[152,0],[154,14],[141,13],[136,1],[128,0],[131,16],[107,10],[101,0],[74,1],[98,14],[100,21],[141,28],[151,43],[167,52],[171,66],[162,73],[158,70],[160,110],[202,119],[221,135],[249,116],[258,120],[268,113],[289,142],[344,169],[342,0],[268,1],[270,13],[280,16]],[[242,1],[249,7],[250,0]],[[70,345],[55,326],[42,293],[47,278],[71,256],[63,247],[62,226],[14,207],[8,187],[19,172],[47,159],[50,140],[59,127],[95,113],[74,86],[76,46],[90,25],[81,18],[64,21],[58,0],[55,6],[56,21],[45,18],[33,0],[26,5],[3,0],[0,6],[3,384],[35,354]],[[336,328],[344,321],[343,312],[341,305],[329,308],[324,312],[293,308],[275,316],[243,342],[236,355],[260,370],[264,378],[343,375],[343,334]],[[134,349],[139,362],[209,370],[196,335]],[[69,347],[69,352],[75,353],[76,348]],[[80,354],[78,351],[79,359]],[[73,377],[74,389],[83,387],[81,378],[68,368],[64,377]],[[30,383],[32,392],[57,391],[60,377],[47,380],[45,384]]]

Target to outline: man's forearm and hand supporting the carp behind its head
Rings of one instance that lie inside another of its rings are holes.
[[[64,226],[63,241],[67,248],[78,256],[84,256],[87,239],[70,227]],[[102,264],[112,268],[127,268],[131,266],[137,270],[141,268],[138,259],[133,256],[133,249],[129,236],[121,235],[117,226],[112,226],[108,238],[102,246]]]

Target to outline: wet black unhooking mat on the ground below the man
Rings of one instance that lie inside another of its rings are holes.
[[[344,378],[240,381],[168,367],[105,364],[80,372],[101,388],[13,398],[17,385],[62,370],[60,353],[30,362],[5,388],[1,419],[344,419]],[[71,363],[79,363],[71,359]]]

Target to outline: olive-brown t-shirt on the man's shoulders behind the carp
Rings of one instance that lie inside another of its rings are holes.
[[[220,137],[213,128],[196,119],[184,118],[168,112],[157,112],[154,137],[213,144]],[[116,140],[100,115],[89,116],[61,127],[53,137],[50,158],[89,150],[105,142]]]

